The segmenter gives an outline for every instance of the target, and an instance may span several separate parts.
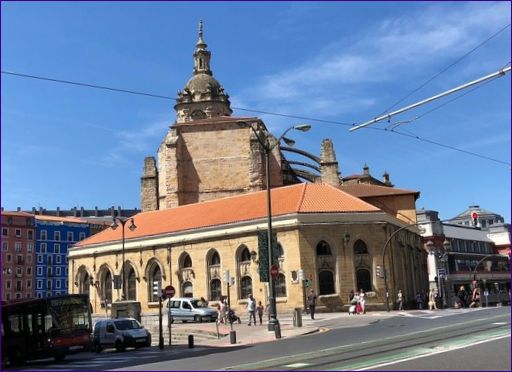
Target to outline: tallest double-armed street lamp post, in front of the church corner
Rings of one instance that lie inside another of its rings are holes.
[[[265,133],[265,138],[262,139],[260,137],[260,133],[254,129],[254,127],[251,124],[248,124],[249,128],[252,129],[254,134],[256,134],[256,138],[258,139],[258,142],[260,143],[261,147],[263,148],[263,151],[265,152],[265,180],[266,180],[266,187],[267,187],[267,248],[268,248],[268,284],[269,284],[269,315],[270,320],[268,322],[268,330],[269,331],[276,331],[276,338],[280,338],[280,329],[279,329],[279,321],[277,320],[277,306],[276,306],[276,297],[275,297],[275,281],[274,278],[271,275],[271,267],[272,267],[272,201],[271,201],[271,195],[270,195],[270,154],[274,148],[279,145],[281,140],[283,140],[288,146],[293,146],[295,144],[295,141],[289,138],[286,138],[285,135],[290,130],[300,130],[301,132],[307,132],[311,129],[311,125],[308,124],[300,124],[300,125],[294,125],[289,128],[287,128],[283,134],[274,142],[270,142],[270,134],[268,132]],[[279,332],[279,335],[278,335]]]

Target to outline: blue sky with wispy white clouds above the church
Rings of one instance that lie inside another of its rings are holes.
[[[510,2],[2,2],[2,70],[174,97],[192,74],[198,21],[232,107],[361,123],[504,67]],[[479,46],[480,44],[482,44]],[[463,92],[466,93],[467,91]],[[478,204],[510,222],[510,74],[393,118],[403,133],[261,115],[296,146],[331,138],[343,176],[365,163],[418,208],[450,218]],[[1,76],[2,206],[139,207],[145,156],[173,101]],[[451,102],[448,102],[451,101]],[[445,104],[445,105],[443,105]],[[443,105],[442,107],[439,107]],[[436,110],[431,111],[432,109]],[[382,122],[372,127],[384,129]],[[508,165],[507,165],[508,164]]]

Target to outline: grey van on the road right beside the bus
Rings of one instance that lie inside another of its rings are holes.
[[[94,325],[93,346],[97,353],[110,347],[124,351],[151,346],[151,333],[133,318],[102,319]]]

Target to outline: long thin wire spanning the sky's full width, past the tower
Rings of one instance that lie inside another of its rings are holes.
[[[60,83],[60,84],[70,84],[70,85],[74,85],[74,86],[93,88],[93,89],[100,89],[100,90],[108,90],[108,91],[112,91],[112,92],[127,93],[127,94],[133,94],[133,95],[140,95],[140,96],[146,96],[146,97],[150,97],[150,98],[160,98],[160,99],[173,100],[173,101],[176,100],[176,97],[170,97],[170,96],[164,96],[164,95],[160,95],[160,94],[141,92],[141,91],[136,91],[136,90],[131,90],[131,89],[113,88],[113,87],[108,87],[108,86],[104,86],[104,85],[83,83],[83,82],[64,80],[64,79],[56,79],[56,78],[50,78],[50,77],[45,77],[45,76],[30,75],[30,74],[24,74],[24,73],[13,72],[13,71],[6,71],[6,70],[2,70],[1,73],[2,74],[6,74],[6,75],[22,77],[22,78],[30,78],[30,79],[49,81],[49,82]],[[494,80],[494,79],[492,79],[492,80]],[[313,117],[307,117],[307,116],[277,113],[277,112],[272,112],[272,111],[255,110],[255,109],[250,109],[250,108],[234,107],[234,106],[232,108],[235,109],[235,110],[248,111],[248,112],[256,112],[256,113],[260,113],[260,114],[266,114],[266,115],[272,115],[272,116],[280,116],[280,117],[286,117],[286,118],[291,118],[291,119],[308,120],[308,121],[314,121],[314,122],[325,123],[325,124],[342,125],[342,126],[347,126],[347,127],[352,127],[354,125],[354,123],[346,123],[346,122],[340,122],[340,121],[335,121],[335,120],[325,120],[325,119],[319,119],[319,118],[313,118]],[[462,150],[462,149],[459,149],[459,148],[454,147],[454,146],[444,145],[442,143],[439,143],[439,142],[436,142],[436,141],[433,141],[433,140],[429,140],[427,138],[423,138],[423,137],[420,137],[420,136],[417,136],[417,135],[414,135],[414,134],[407,135],[407,134],[398,132],[396,130],[386,130],[385,128],[377,128],[377,127],[367,127],[365,129],[381,130],[381,131],[385,131],[385,132],[388,132],[388,133],[400,134],[400,135],[403,135],[403,136],[414,138],[414,139],[422,141],[422,142],[434,144],[434,145],[437,145],[437,146],[440,146],[440,147],[449,148],[449,149],[454,150],[454,151],[459,151],[459,152],[462,152],[462,153],[465,153],[465,154],[468,154],[468,155],[473,155],[473,156],[476,156],[476,157],[479,157],[479,158],[482,158],[482,159],[487,159],[487,160],[491,160],[491,161],[494,161],[494,162],[498,162],[498,163],[502,163],[502,164],[506,164],[506,165],[510,166],[510,163],[503,162],[503,161],[498,160],[498,159],[493,159],[493,158],[487,157],[485,155],[481,155],[481,154],[474,153],[474,152],[471,152],[471,151]]]

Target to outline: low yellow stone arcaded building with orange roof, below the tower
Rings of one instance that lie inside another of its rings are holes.
[[[326,184],[285,186],[271,195],[279,243],[278,313],[303,307],[299,269],[319,294],[319,307],[340,310],[349,292],[358,289],[368,293],[370,308],[383,306],[384,282],[376,269],[387,238],[404,222]],[[137,228],[125,229],[127,299],[140,301],[143,313],[156,311],[153,282],[160,281],[163,287],[173,285],[177,296],[216,301],[227,294],[223,273],[229,270],[235,278],[232,306],[244,305],[250,293],[266,301],[267,284],[258,273],[258,237],[265,240],[266,213],[262,191],[135,215]],[[393,262],[390,294],[402,289],[411,299],[416,291],[425,291],[426,253],[420,236],[405,229],[388,249],[387,261]],[[89,292],[95,313],[103,311],[104,299],[120,300],[122,291],[114,289],[113,279],[122,276],[122,256],[121,228],[109,228],[71,248],[70,292]]]

